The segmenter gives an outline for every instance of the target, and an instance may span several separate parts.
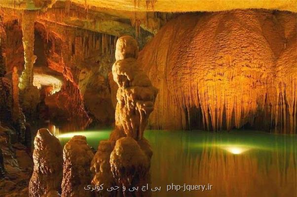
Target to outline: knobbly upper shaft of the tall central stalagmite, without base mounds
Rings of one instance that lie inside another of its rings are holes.
[[[143,138],[149,114],[153,111],[158,90],[137,63],[138,45],[131,36],[120,37],[116,42],[112,66],[113,80],[118,85],[116,94],[115,126],[126,136]]]

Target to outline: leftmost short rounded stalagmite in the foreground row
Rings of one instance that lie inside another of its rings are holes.
[[[39,129],[34,147],[29,197],[58,197],[62,182],[62,146],[47,129]]]

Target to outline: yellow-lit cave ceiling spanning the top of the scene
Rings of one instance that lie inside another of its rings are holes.
[[[20,18],[22,10],[35,10],[37,23],[47,27],[136,37],[140,31],[155,34],[167,22],[166,14],[248,8],[297,11],[296,0],[1,0],[0,7],[4,22]]]

